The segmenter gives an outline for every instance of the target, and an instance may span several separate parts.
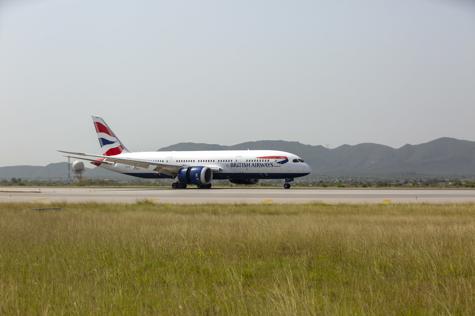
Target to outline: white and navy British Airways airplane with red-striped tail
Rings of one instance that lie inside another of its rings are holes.
[[[90,161],[107,170],[147,179],[177,179],[171,187],[185,189],[196,185],[211,188],[211,180],[235,184],[256,184],[261,179],[285,179],[289,189],[294,178],[312,169],[293,153],[278,150],[202,150],[171,152],[131,152],[117,138],[102,117],[92,116],[103,154],[73,153],[71,157]]]

